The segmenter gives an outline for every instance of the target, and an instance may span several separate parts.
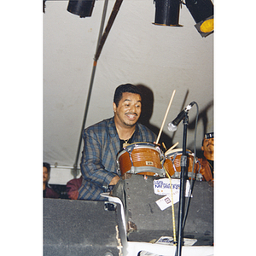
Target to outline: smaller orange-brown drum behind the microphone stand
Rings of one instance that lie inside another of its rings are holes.
[[[183,154],[183,149],[176,148],[176,149],[173,149],[170,154],[166,155],[164,168],[166,168],[166,171],[172,177],[178,177],[178,178],[180,177],[180,172],[181,172],[180,160],[181,160],[182,154]],[[192,175],[194,154],[189,149],[187,149],[187,160],[188,160],[187,162],[188,177],[195,178],[195,173],[197,173],[199,170],[199,162],[195,160],[194,174]]]

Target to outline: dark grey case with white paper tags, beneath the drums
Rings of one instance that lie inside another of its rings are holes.
[[[156,201],[164,195],[154,194],[154,180],[126,174],[113,189],[113,196],[123,201],[128,241],[156,241],[161,236],[173,237],[172,207],[162,211]],[[174,179],[172,179],[174,180]],[[207,182],[195,181],[183,237],[196,239],[196,246],[213,244],[213,189]],[[185,209],[188,198],[185,199]],[[178,202],[174,204],[177,231]]]

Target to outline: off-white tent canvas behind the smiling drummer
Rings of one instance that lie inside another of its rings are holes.
[[[44,14],[44,161],[60,166],[75,162],[104,1],[97,0],[85,19],[67,12],[67,3],[47,1]],[[106,23],[114,3],[109,0]],[[153,0],[122,3],[96,67],[85,126],[113,116],[119,84],[141,84],[148,91],[143,117],[158,134],[176,90],[161,138],[167,146],[179,142],[182,147],[182,123],[174,134],[167,123],[195,101],[201,148],[204,133],[213,131],[213,34],[201,38],[185,6],[183,27],[154,26],[154,11]],[[189,149],[194,148],[195,110],[189,112]]]

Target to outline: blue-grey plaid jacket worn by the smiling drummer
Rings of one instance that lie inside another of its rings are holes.
[[[84,150],[81,160],[82,200],[106,201],[100,194],[106,192],[108,184],[117,173],[117,154],[120,150],[119,136],[113,118],[105,119],[84,129]],[[156,136],[146,126],[138,124],[131,143],[153,143]]]

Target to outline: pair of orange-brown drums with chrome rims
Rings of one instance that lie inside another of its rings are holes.
[[[166,172],[168,172],[170,177],[179,178],[182,153],[182,148],[167,150],[166,154],[164,154],[160,146],[154,143],[131,143],[117,155],[118,171],[122,177],[125,173],[166,177]],[[196,174],[200,172],[200,162],[189,149],[187,149],[186,153],[187,176],[189,179],[194,179]]]

